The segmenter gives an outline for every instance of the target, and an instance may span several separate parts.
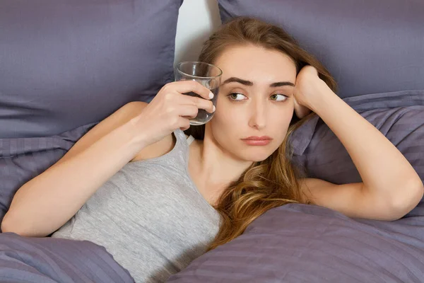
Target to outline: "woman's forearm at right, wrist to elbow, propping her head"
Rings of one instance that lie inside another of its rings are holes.
[[[364,183],[376,197],[404,205],[423,195],[423,183],[411,164],[370,122],[355,112],[329,88],[320,95],[312,110],[336,134],[355,163]],[[412,208],[411,208],[412,209]]]

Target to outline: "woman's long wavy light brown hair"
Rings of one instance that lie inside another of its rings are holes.
[[[226,48],[234,45],[257,45],[279,50],[293,59],[299,72],[311,65],[319,77],[336,91],[336,82],[329,71],[282,28],[254,18],[235,18],[225,23],[205,42],[199,61],[213,64]],[[261,162],[250,166],[240,178],[229,185],[216,205],[222,217],[220,231],[209,249],[240,236],[247,226],[267,210],[293,202],[307,202],[298,183],[298,172],[290,162],[288,137],[301,121],[292,120],[283,144]],[[186,134],[204,139],[205,127],[190,127]]]

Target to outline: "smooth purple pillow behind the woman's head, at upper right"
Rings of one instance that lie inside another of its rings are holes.
[[[219,0],[223,22],[282,26],[326,66],[338,96],[424,90],[424,1]]]

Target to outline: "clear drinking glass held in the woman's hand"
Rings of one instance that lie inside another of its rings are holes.
[[[175,81],[191,80],[201,83],[202,86],[208,88],[213,93],[211,101],[215,107],[222,74],[223,71],[221,69],[213,64],[204,62],[186,61],[177,64],[177,67],[175,67]],[[183,94],[201,97],[192,91]],[[190,120],[190,125],[204,125],[212,119],[213,114],[206,112],[204,109],[199,109],[197,116]]]

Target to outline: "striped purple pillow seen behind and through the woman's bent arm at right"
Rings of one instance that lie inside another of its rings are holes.
[[[424,182],[424,91],[376,93],[345,102],[404,154]],[[362,181],[348,151],[318,116],[297,129],[290,143],[293,162],[308,177],[335,184]],[[420,205],[424,208],[424,200]]]

